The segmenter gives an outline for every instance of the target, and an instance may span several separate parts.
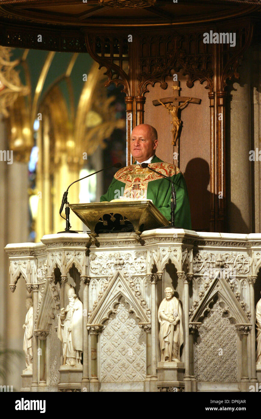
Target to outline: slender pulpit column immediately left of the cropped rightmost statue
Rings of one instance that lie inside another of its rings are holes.
[[[255,308],[255,294],[254,294],[254,285],[256,282],[257,275],[252,275],[248,277],[248,284],[250,289],[250,313],[251,313],[251,324],[252,329],[250,331],[250,348],[251,348],[251,375],[250,381],[256,383],[256,308]]]

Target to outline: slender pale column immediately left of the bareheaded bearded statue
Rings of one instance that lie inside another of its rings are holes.
[[[149,280],[151,284],[151,294],[150,294],[150,301],[151,301],[151,377],[150,381],[150,391],[158,391],[157,388],[157,344],[158,344],[158,336],[157,336],[157,298],[156,298],[156,285],[158,280],[160,279],[160,275],[162,276],[162,272],[157,272],[157,274],[149,274]]]

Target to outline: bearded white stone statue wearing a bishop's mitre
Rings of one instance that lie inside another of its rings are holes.
[[[61,308],[57,335],[62,342],[63,365],[81,365],[83,352],[83,303],[71,285],[65,284],[69,304]]]

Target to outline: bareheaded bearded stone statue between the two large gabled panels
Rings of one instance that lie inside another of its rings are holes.
[[[161,362],[181,362],[179,352],[183,343],[182,309],[180,301],[173,294],[173,289],[167,287],[166,297],[158,309]]]

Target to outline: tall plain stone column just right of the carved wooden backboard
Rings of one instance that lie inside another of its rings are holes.
[[[254,134],[255,118],[252,119],[254,113],[252,96],[254,98],[254,95],[251,90],[254,86],[257,87],[258,80],[252,79],[251,72],[257,63],[253,62],[253,57],[256,55],[252,52],[251,56],[249,53],[250,50],[246,53],[240,69],[241,82],[233,83],[233,88],[231,88],[230,150],[226,152],[228,156],[230,155],[230,173],[228,173],[230,179],[227,179],[227,184],[230,185],[230,201],[227,202],[228,233],[254,232],[254,222],[252,221],[254,208],[252,209],[252,205],[258,205],[259,191],[254,193],[253,183],[256,183],[258,179],[258,172],[254,174],[254,171],[255,168],[258,168],[259,163],[249,160],[249,151],[256,151],[255,137],[256,147],[259,147],[260,144],[258,134]],[[239,178],[240,182],[238,182]],[[218,201],[222,201],[222,199],[218,199]],[[259,230],[257,231],[259,232]]]

